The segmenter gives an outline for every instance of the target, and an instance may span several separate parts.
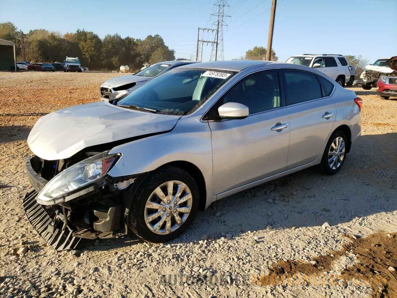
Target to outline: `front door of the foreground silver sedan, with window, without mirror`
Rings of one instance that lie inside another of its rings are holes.
[[[279,73],[274,70],[248,75],[233,85],[208,112],[214,194],[285,171],[289,116],[279,82]],[[218,108],[229,102],[248,106],[249,116],[220,120]]]

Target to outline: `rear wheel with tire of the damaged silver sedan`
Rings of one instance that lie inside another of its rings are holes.
[[[346,141],[346,135],[340,130],[331,135],[321,160],[321,167],[326,174],[336,174],[345,163]]]

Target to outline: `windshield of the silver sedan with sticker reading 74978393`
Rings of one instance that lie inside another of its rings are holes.
[[[236,72],[175,68],[147,81],[116,105],[160,114],[186,115],[201,106]]]

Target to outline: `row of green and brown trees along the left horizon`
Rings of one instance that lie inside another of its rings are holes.
[[[20,34],[13,23],[0,23],[0,39],[15,43],[17,60],[22,60]],[[26,61],[63,62],[66,56],[77,56],[82,66],[96,70],[118,70],[121,65],[137,70],[144,62],[154,64],[175,60],[175,51],[164,43],[160,35],[148,35],[142,40],[129,36],[122,38],[115,33],[101,39],[94,32],[84,29],[64,35],[34,29],[25,34],[24,43]]]

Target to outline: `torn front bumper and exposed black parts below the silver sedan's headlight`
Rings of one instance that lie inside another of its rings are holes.
[[[66,203],[41,205],[37,195],[48,183],[40,176],[44,161],[28,156],[25,163],[34,190],[25,195],[23,209],[39,236],[56,250],[74,249],[81,238],[112,238],[126,233],[117,191],[104,193],[91,186],[70,195],[73,198]]]

